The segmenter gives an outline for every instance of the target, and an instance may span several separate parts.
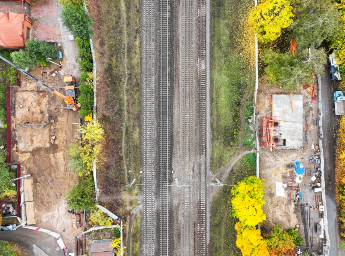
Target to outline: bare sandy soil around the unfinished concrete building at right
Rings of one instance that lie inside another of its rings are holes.
[[[259,89],[257,93],[257,104],[256,104],[256,114],[257,120],[262,116],[272,115],[272,107],[270,105],[268,94],[286,94],[282,91],[281,88],[277,86],[269,86],[264,79],[259,79]],[[309,100],[311,96],[307,93],[306,90],[302,89],[299,94],[303,95],[303,130],[307,130],[307,124],[311,124],[310,111],[309,111]],[[288,106],[289,107],[289,106]],[[313,109],[312,119],[318,120],[318,107],[317,102],[311,103]],[[258,126],[259,127],[259,126]],[[305,170],[310,168],[312,170],[312,176],[314,175],[314,167],[319,167],[318,164],[310,164],[309,158],[311,157],[311,145],[318,144],[318,126],[310,125],[310,130],[306,131],[306,141],[303,144],[303,149],[301,150],[273,150],[272,152],[263,146],[260,147],[260,158],[259,158],[259,173],[260,177],[265,180],[265,190],[264,190],[264,201],[263,206],[264,213],[266,214],[266,221],[263,222],[263,226],[270,230],[274,227],[275,224],[283,226],[285,229],[290,227],[295,227],[296,224],[302,225],[302,219],[299,214],[299,204],[295,208],[294,201],[296,201],[296,192],[290,191],[292,193],[292,204],[287,204],[287,191],[285,191],[285,197],[276,196],[276,184],[275,184],[275,175],[277,175],[277,181],[282,182],[282,174],[289,173],[292,171],[292,168],[289,168],[287,165],[292,163],[295,159],[299,161],[300,164],[305,166]],[[289,174],[288,174],[289,175]],[[315,195],[314,191],[311,189],[310,184],[312,183],[310,177],[306,177],[304,174],[303,181],[300,184],[300,191],[302,192],[302,201],[299,203],[311,203],[315,204]],[[297,185],[297,184],[295,184]],[[307,208],[307,207],[306,207]],[[297,215],[296,215],[297,213]],[[313,215],[312,215],[313,214]],[[312,223],[319,223],[320,219],[318,214],[315,214],[311,211]],[[318,243],[316,239],[316,234],[313,234],[313,224],[311,228],[308,228],[309,239],[313,239],[313,245],[315,252],[318,248]],[[304,231],[300,231],[300,235],[304,237]],[[318,239],[320,240],[320,239]],[[309,240],[309,244],[310,244]]]

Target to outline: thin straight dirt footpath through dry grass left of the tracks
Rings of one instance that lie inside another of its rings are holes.
[[[126,21],[126,6],[125,1],[121,0],[121,22],[124,25],[124,44],[125,44],[125,81],[123,83],[123,93],[124,93],[124,120],[122,123],[122,162],[124,164],[125,171],[125,182],[128,183],[127,175],[127,163],[126,163],[126,127],[127,127],[127,81],[128,81],[128,71],[127,71],[127,21]]]

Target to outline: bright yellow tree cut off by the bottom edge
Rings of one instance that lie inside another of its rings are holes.
[[[243,226],[240,222],[237,222],[235,229],[237,230],[236,245],[243,256],[269,256],[267,241],[261,236],[260,230]]]

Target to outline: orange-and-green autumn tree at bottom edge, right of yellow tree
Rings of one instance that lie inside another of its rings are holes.
[[[293,237],[276,225],[267,240],[267,248],[271,256],[295,255],[295,243]]]

